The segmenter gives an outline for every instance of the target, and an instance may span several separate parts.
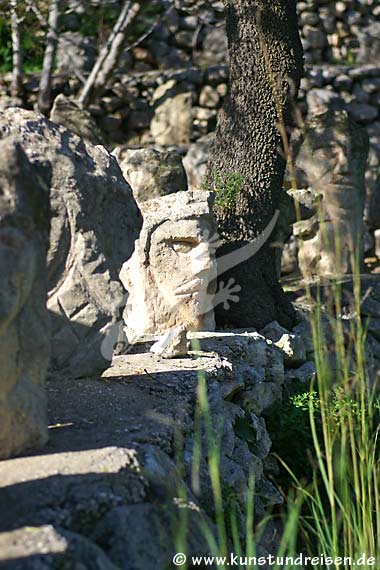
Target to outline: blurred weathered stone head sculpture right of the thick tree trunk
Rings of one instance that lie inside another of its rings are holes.
[[[346,111],[312,117],[296,138],[297,184],[315,197],[314,220],[295,225],[304,276],[350,271],[352,252],[361,256],[368,135]]]

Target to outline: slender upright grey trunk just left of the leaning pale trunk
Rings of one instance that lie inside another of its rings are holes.
[[[58,45],[59,3],[60,0],[51,0],[49,5],[48,32],[37,102],[38,110],[44,115],[49,113],[52,104],[51,83]]]

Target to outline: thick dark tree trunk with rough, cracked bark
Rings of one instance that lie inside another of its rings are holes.
[[[303,72],[296,0],[225,0],[225,5],[229,91],[206,176],[216,192],[224,241],[219,257],[254,240],[276,214],[287,129]],[[293,309],[278,283],[270,243],[220,275],[224,282],[231,277],[242,287],[240,300],[229,310],[216,309],[218,325],[261,328],[273,320],[292,325]]]

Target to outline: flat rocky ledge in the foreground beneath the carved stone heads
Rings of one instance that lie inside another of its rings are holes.
[[[140,345],[101,377],[49,379],[49,443],[0,464],[1,568],[169,568],[181,485],[190,551],[206,552],[199,530],[212,512],[205,458],[198,496],[189,476],[199,370],[207,373],[213,418],[223,424],[223,483],[244,492],[254,465],[258,509],[281,503],[263,474],[270,438],[260,418],[273,394],[280,397],[281,350],[257,333],[201,336],[202,349],[183,359],[163,360]],[[265,389],[250,404],[256,413],[232,403],[238,392],[249,400],[260,377]],[[250,426],[252,441],[236,435],[238,418]],[[175,459],[179,434],[183,479]]]

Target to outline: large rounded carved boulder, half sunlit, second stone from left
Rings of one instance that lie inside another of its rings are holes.
[[[13,135],[50,188],[48,308],[52,367],[74,376],[104,369],[107,332],[125,298],[119,280],[140,214],[117,161],[42,115],[8,109],[0,138]]]

